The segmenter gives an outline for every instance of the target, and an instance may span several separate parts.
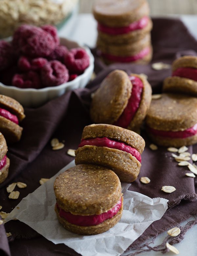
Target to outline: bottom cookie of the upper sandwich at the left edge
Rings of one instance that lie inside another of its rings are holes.
[[[0,116],[0,132],[4,135],[7,143],[18,142],[23,128],[9,119]]]

